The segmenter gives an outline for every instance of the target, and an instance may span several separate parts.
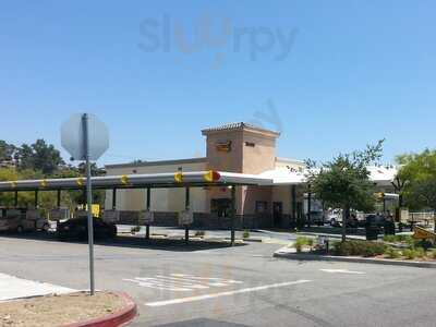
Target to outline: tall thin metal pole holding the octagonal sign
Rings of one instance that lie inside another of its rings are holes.
[[[86,161],[86,193],[87,193],[87,214],[88,214],[88,244],[89,244],[89,288],[90,295],[95,294],[94,282],[94,226],[93,226],[93,193],[90,185],[90,161],[89,161],[89,137],[88,137],[88,116],[82,116],[83,123],[83,142]]]

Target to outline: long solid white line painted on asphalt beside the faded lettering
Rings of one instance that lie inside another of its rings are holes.
[[[311,281],[312,280],[300,279],[300,280],[295,280],[295,281],[279,282],[279,283],[266,284],[266,286],[254,287],[254,288],[246,288],[246,289],[215,293],[215,294],[204,294],[204,295],[189,296],[189,298],[181,298],[181,299],[173,299],[173,300],[166,300],[166,301],[148,302],[148,303],[145,303],[145,305],[158,307],[158,306],[165,306],[165,305],[181,304],[181,303],[186,303],[186,302],[210,300],[210,299],[216,299],[216,298],[220,298],[220,296],[229,296],[229,295],[234,295],[234,294],[264,291],[267,289],[288,287],[288,286],[292,286],[292,284],[305,283],[305,282],[311,282]]]

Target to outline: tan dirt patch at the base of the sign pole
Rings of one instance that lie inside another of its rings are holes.
[[[110,315],[124,306],[124,300],[111,292],[97,292],[94,296],[78,292],[0,302],[0,326],[63,326]]]

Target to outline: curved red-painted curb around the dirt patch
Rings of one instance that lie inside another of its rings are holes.
[[[126,326],[128,323],[132,322],[136,316],[137,308],[136,303],[133,299],[124,292],[113,292],[124,300],[126,306],[121,308],[119,312],[113,314],[89,319],[86,322],[74,323],[71,325],[66,325],[64,327],[118,327],[118,326]]]

